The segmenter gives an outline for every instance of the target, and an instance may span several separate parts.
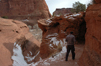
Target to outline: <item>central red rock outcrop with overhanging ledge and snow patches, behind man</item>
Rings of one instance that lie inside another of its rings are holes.
[[[86,32],[84,15],[85,13],[81,12],[72,15],[57,15],[48,20],[39,20],[38,25],[43,31],[40,56],[46,58],[61,51],[61,46],[65,44],[66,35],[71,31],[74,32],[78,41],[84,40]]]

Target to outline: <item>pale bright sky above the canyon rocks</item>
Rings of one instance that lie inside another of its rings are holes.
[[[88,4],[91,0],[45,0],[50,13],[52,14],[56,8],[72,8],[73,3],[79,1],[83,4]]]

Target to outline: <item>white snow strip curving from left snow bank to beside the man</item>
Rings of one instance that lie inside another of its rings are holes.
[[[13,64],[12,65],[13,66],[37,66],[39,63],[42,63],[42,65],[44,65],[44,66],[50,66],[50,63],[47,61],[59,60],[59,57],[62,56],[63,53],[66,53],[66,46],[63,46],[62,51],[54,57],[50,57],[46,60],[42,60],[40,58],[40,61],[38,61],[36,63],[27,64],[26,61],[24,60],[21,46],[14,43],[13,56],[12,56]]]

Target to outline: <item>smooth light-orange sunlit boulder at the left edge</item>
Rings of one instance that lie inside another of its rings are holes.
[[[13,19],[0,18],[0,66],[12,65],[13,46],[16,40],[21,37],[25,37],[32,42],[32,45],[40,46],[40,43],[29,32],[26,24]],[[30,49],[32,48],[30,47]]]

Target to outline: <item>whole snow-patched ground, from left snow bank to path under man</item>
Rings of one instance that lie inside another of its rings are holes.
[[[69,61],[65,61],[66,45],[63,45],[62,51],[56,55],[46,59],[40,58],[40,61],[36,63],[33,62],[31,64],[27,64],[24,60],[20,45],[14,43],[13,56],[11,57],[13,60],[12,66],[78,66],[77,62],[79,61],[79,58],[83,52],[83,48],[84,44],[77,44],[75,46],[75,60],[72,60],[72,55],[70,53],[68,58]]]

